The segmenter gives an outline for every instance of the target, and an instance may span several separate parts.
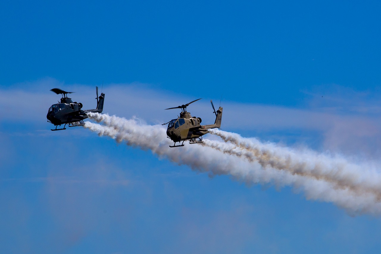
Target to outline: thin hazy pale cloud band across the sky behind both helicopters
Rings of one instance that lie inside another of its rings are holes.
[[[81,102],[85,109],[96,106],[95,85],[64,84],[46,78],[12,87],[0,87],[0,94],[3,95],[0,106],[5,109],[0,117],[12,124],[38,126],[39,135],[49,135],[53,125],[46,122],[46,113],[50,105],[60,98],[60,95],[49,91],[55,87],[76,92],[70,94],[71,98]],[[99,86],[99,93],[101,89]],[[104,113],[126,118],[137,116],[153,124],[163,124],[179,114],[179,110],[164,110],[165,108],[197,99],[174,92],[158,91],[139,83],[104,84],[102,90],[106,93]],[[356,153],[360,147],[365,154],[378,156],[378,147],[381,147],[381,110],[378,110],[376,104],[377,96],[343,87],[328,91],[326,89],[323,98],[319,91],[306,93],[310,98],[306,101],[305,108],[222,101],[222,129],[255,132],[257,135],[266,133],[267,137],[289,130],[293,130],[295,136],[298,132],[314,132],[315,137],[311,138],[321,139],[319,142],[323,149]],[[338,94],[333,94],[335,92]],[[215,106],[219,104],[218,99],[215,100]],[[214,122],[209,101],[210,98],[204,98],[188,107],[188,111],[193,116],[201,117],[204,124]],[[42,133],[42,130],[48,133]],[[72,130],[70,132],[74,134]]]

